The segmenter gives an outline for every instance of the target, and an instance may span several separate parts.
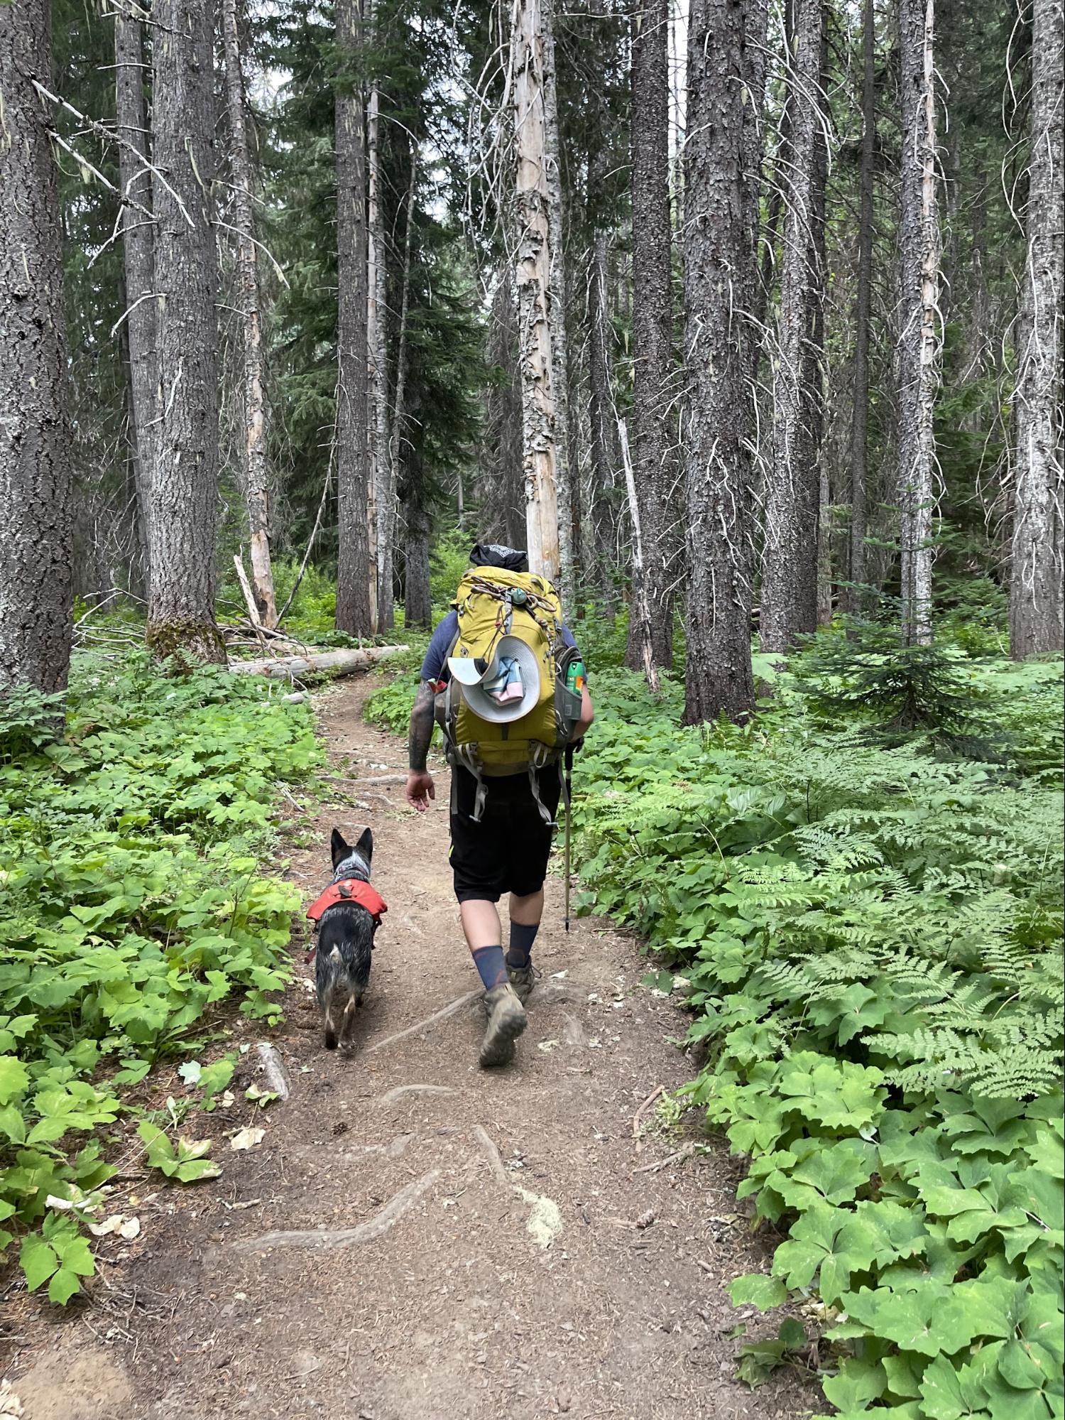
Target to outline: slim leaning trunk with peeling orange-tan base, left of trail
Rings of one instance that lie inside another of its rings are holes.
[[[247,504],[251,550],[251,592],[264,626],[277,625],[274,574],[270,565],[270,463],[266,402],[266,358],[263,352],[261,288],[256,253],[256,210],[251,196],[253,168],[244,111],[244,84],[240,68],[240,30],[237,0],[222,0],[222,31],[226,47],[226,109],[230,132],[230,176],[233,213],[237,227],[237,284],[244,328],[244,440],[241,477]]]

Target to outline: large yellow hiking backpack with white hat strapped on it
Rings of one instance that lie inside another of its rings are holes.
[[[452,605],[459,633],[436,719],[449,761],[477,780],[473,818],[480,821],[484,809],[486,777],[527,772],[540,814],[551,822],[537,770],[558,760],[581,714],[581,696],[565,684],[575,652],[562,642],[558,592],[534,572],[477,567],[459,582]],[[520,703],[497,707],[484,686],[506,657],[520,665],[524,693]]]

